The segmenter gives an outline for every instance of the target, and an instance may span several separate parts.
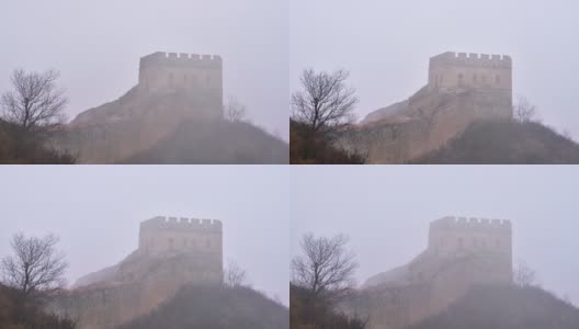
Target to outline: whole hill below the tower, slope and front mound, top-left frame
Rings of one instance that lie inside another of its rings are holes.
[[[201,92],[151,93],[138,86],[80,113],[50,140],[80,163],[287,163],[285,141],[220,117]]]

